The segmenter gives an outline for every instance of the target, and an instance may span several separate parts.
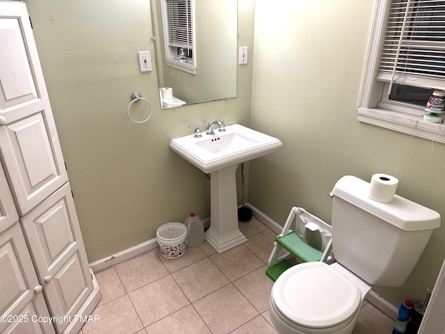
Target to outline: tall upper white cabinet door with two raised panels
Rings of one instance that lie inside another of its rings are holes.
[[[0,150],[22,216],[68,177],[26,6],[0,13]]]

